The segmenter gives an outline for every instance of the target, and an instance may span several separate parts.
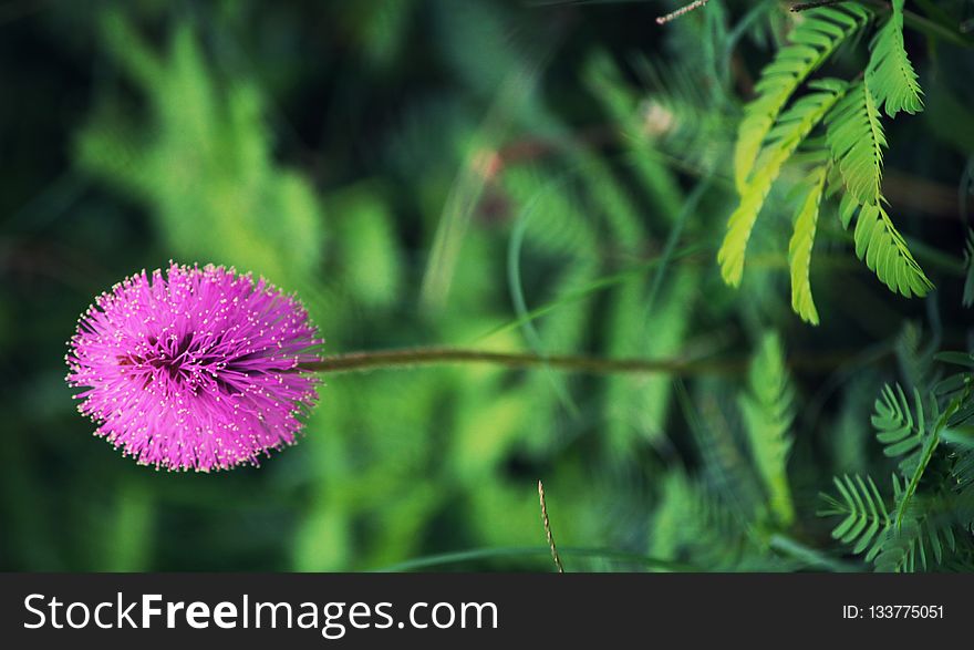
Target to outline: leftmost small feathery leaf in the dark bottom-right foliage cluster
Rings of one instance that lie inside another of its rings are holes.
[[[842,516],[842,520],[832,528],[832,539],[852,545],[852,553],[866,551],[866,559],[872,561],[882,550],[885,534],[892,526],[892,518],[885,502],[871,477],[856,474],[833,479],[840,499],[823,494],[829,508],[821,510],[822,516]]]

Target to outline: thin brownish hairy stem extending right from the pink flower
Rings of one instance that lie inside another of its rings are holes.
[[[339,373],[449,363],[494,363],[516,369],[548,367],[570,372],[593,374],[633,372],[685,375],[740,372],[745,368],[746,360],[603,359],[580,354],[539,355],[525,352],[488,352],[463,348],[407,348],[402,350],[332,354],[330,357],[322,357],[318,361],[301,363],[300,368],[314,372]]]

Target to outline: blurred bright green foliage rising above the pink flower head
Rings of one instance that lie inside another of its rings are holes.
[[[260,269],[298,288],[320,261],[320,207],[302,175],[274,165],[258,89],[219,84],[188,27],[173,33],[165,55],[121,14],[105,18],[103,33],[146,97],[152,126],[106,109],[77,137],[79,166],[149,207],[184,259]]]

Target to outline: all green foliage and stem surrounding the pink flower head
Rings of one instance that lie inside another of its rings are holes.
[[[826,4],[8,17],[2,568],[557,570],[539,478],[567,571],[971,568],[970,0]],[[170,258],[301,297],[292,452],[91,443],[64,339]]]

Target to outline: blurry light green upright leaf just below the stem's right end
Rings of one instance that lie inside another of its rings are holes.
[[[788,486],[789,435],[795,419],[795,393],[785,367],[781,343],[774,333],[766,333],[750,364],[750,390],[739,399],[750,450],[758,474],[768,494],[768,505],[778,523],[795,519],[791,491]]]

